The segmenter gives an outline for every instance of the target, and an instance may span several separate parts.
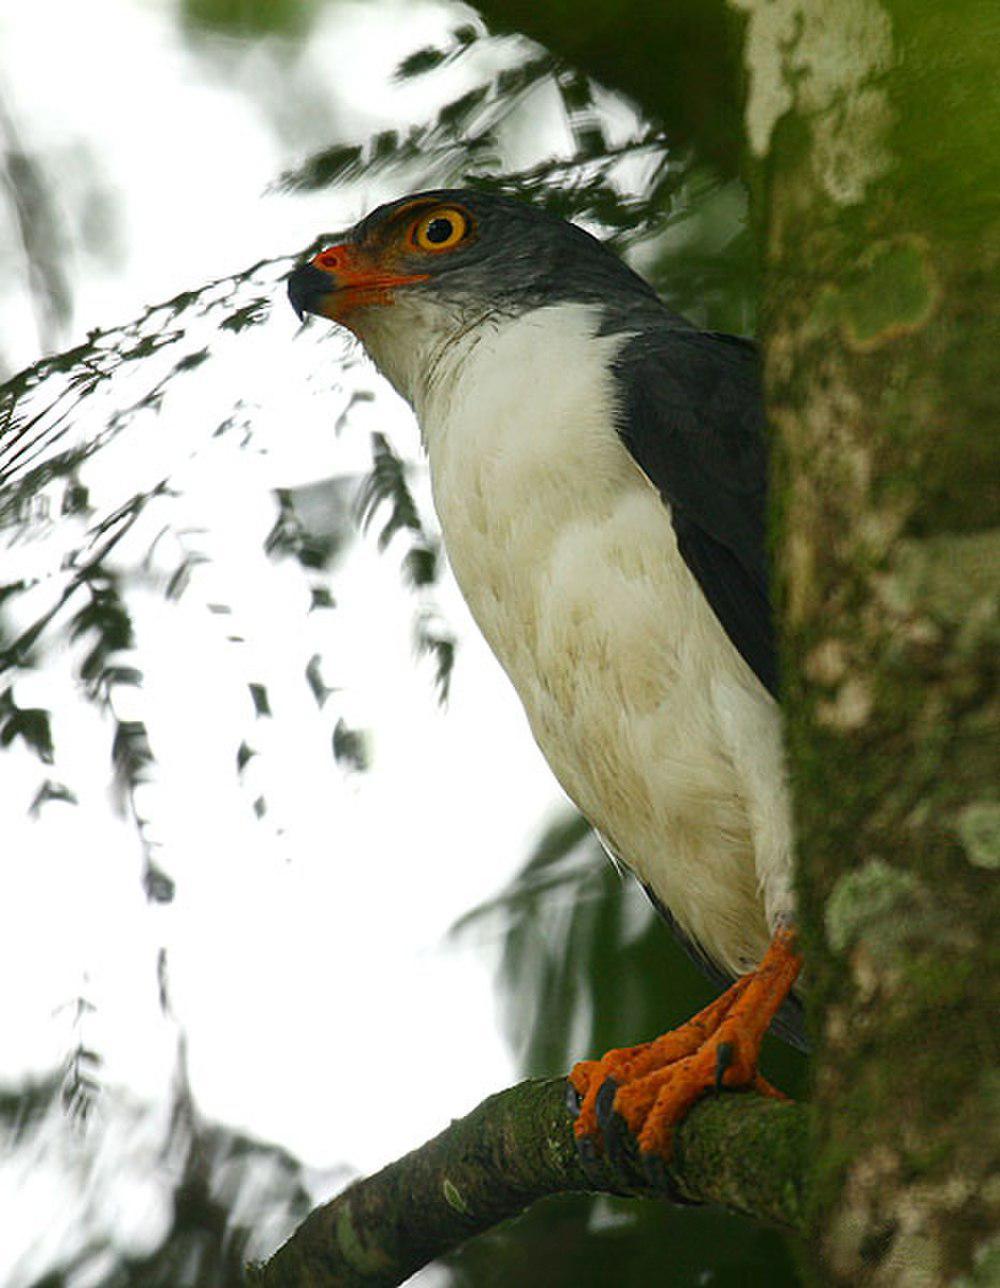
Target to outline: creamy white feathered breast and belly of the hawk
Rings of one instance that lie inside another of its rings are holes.
[[[482,327],[439,363],[418,415],[455,576],[557,778],[738,972],[768,942],[754,833],[785,818],[747,782],[740,712],[763,721],[780,777],[777,724],[611,428],[622,343],[595,336],[581,305]],[[774,827],[786,885],[787,827]]]

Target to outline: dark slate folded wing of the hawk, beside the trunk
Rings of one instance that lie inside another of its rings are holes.
[[[727,635],[777,697],[767,562],[767,446],[756,348],[662,326],[615,363],[619,433],[670,506],[678,547]]]

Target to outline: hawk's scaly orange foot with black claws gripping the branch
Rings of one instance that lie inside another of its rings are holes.
[[[575,1131],[582,1158],[593,1158],[598,1142],[607,1144],[624,1123],[644,1163],[668,1160],[674,1128],[714,1088],[751,1087],[784,1100],[756,1072],[756,1061],[800,969],[795,933],[778,930],[758,969],[679,1029],[575,1065],[570,1083],[580,1097]]]

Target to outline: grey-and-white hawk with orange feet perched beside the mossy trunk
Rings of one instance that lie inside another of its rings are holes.
[[[572,223],[464,189],[379,207],[289,294],[412,406],[448,560],[539,747],[728,984],[570,1074],[585,1159],[622,1121],[669,1158],[706,1091],[777,1095],[772,1023],[803,1042],[755,346]]]

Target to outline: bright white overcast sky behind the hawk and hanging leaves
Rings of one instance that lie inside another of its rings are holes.
[[[459,5],[330,3],[313,8],[302,40],[244,43],[184,35],[166,0],[6,0],[5,146],[44,180],[68,300],[37,307],[26,231],[0,194],[4,379],[436,182],[388,173],[320,194],[272,187],[322,147],[427,120],[482,79],[483,61],[521,57],[510,41],[487,43],[478,63],[393,82],[405,55],[476,21]],[[506,139],[515,165],[568,146],[544,91]],[[133,408],[86,465],[91,505],[110,513],[164,478],[174,492],[113,556],[130,576],[135,635],[119,661],[142,684],[89,701],[86,640],[63,630],[13,687],[19,708],[53,712],[55,759],[41,765],[23,739],[0,752],[0,1092],[68,1075],[73,1052],[97,1091],[85,1115],[57,1100],[0,1140],[9,1288],[73,1262],[70,1283],[99,1284],[115,1251],[156,1247],[170,1221],[162,1148],[182,1074],[201,1119],[300,1159],[313,1199],[514,1077],[495,945],[447,933],[504,886],[563,801],[447,577],[420,601],[401,582],[405,544],[379,553],[375,524],[336,565],[335,609],[311,611],[302,567],[264,554],[274,489],[363,474],[374,430],[414,462],[433,522],[407,410],[331,328],[299,327],[286,269],[258,276],[276,301],[260,326],[223,334],[206,316],[198,337],[184,316],[170,363],[201,346],[210,361],[161,399],[135,406],[155,381],[137,363],[140,388],[122,368],[86,415],[73,408],[81,440]],[[168,325],[153,314],[147,334]],[[8,629],[58,598],[79,545],[79,531],[43,520],[0,533],[4,582],[36,582],[8,605]],[[166,595],[186,560],[183,594]],[[421,612],[459,641],[445,708],[432,659],[414,650]],[[332,690],[322,705],[311,662]],[[265,689],[265,711],[250,685]],[[338,720],[363,730],[369,772],[335,762]],[[142,723],[153,757],[117,797],[115,721]],[[241,746],[255,755],[237,774]],[[46,775],[76,804],[32,810]],[[173,898],[147,896],[151,863]],[[262,1226],[251,1251],[286,1233],[280,1220]],[[86,1255],[101,1244],[101,1257]]]

